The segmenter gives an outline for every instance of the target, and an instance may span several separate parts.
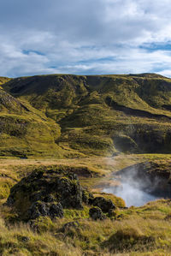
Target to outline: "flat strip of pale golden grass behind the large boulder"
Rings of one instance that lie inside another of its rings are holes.
[[[72,170],[80,176],[83,186],[97,189],[111,180],[111,173],[144,161],[171,164],[169,154],[121,154],[113,158],[71,158],[71,159],[0,159],[0,199],[5,199],[9,189],[21,177],[27,176],[36,168]]]

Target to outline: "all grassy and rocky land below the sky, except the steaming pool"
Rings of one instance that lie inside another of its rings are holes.
[[[135,166],[145,189],[170,188],[170,88],[158,74],[0,77],[0,255],[170,255],[170,199],[103,193]]]

